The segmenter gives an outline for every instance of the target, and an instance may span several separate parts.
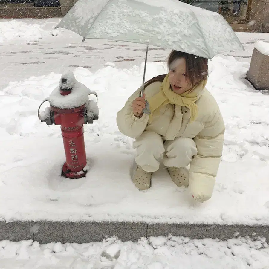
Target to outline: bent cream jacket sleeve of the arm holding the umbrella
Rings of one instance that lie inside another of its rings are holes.
[[[131,138],[139,137],[145,130],[149,121],[149,115],[143,114],[141,118],[134,115],[132,102],[139,97],[141,88],[135,91],[125,103],[125,106],[117,113],[117,126],[121,133]]]

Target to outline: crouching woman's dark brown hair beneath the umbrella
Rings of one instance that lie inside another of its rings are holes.
[[[179,58],[184,58],[186,60],[186,76],[189,77],[192,86],[195,86],[202,80],[207,79],[208,59],[193,54],[189,54],[186,52],[173,50],[171,51],[167,59],[169,70],[172,63]]]

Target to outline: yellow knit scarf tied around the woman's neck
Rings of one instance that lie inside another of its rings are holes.
[[[202,80],[198,85],[189,91],[184,92],[183,94],[176,94],[171,90],[168,78],[169,74],[167,74],[164,78],[160,92],[148,100],[151,109],[151,114],[149,117],[152,117],[152,114],[158,107],[165,106],[170,103],[189,108],[191,114],[190,121],[192,123],[198,117],[198,107],[195,102],[201,96],[202,90],[207,84],[207,80]]]

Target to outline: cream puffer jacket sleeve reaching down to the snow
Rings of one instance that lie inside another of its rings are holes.
[[[223,118],[218,110],[194,138],[198,153],[190,164],[189,186],[193,198],[200,202],[212,196],[221,161],[224,131]]]

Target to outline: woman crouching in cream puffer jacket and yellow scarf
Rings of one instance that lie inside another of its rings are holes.
[[[189,185],[192,197],[212,196],[224,143],[224,123],[218,104],[205,88],[207,59],[180,51],[168,58],[169,73],[145,83],[117,113],[117,126],[135,138],[137,169],[132,181],[149,189],[160,162],[178,187]],[[150,114],[143,113],[146,101]],[[186,168],[190,164],[189,171]]]

